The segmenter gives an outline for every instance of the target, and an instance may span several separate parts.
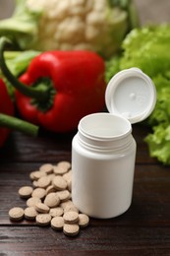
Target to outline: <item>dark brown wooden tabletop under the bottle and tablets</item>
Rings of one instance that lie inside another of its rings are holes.
[[[90,219],[90,224],[72,238],[50,226],[12,223],[8,211],[25,206],[18,189],[31,184],[30,171],[43,162],[71,160],[75,133],[42,133],[35,139],[13,133],[0,151],[0,256],[170,255],[170,168],[149,158],[143,143],[148,129],[142,125],[133,128],[138,152],[131,208],[114,219]]]

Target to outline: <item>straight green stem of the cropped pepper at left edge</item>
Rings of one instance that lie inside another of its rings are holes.
[[[30,124],[27,121],[21,120],[17,117],[2,113],[0,113],[0,127],[17,130],[33,137],[37,136],[38,134],[38,126]]]

